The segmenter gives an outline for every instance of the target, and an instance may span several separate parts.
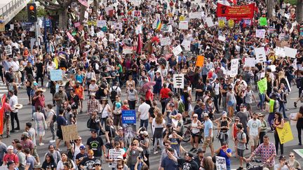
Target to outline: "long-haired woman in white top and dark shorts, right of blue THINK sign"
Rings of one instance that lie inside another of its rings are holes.
[[[157,154],[157,144],[159,144],[161,148],[163,146],[163,129],[166,128],[166,120],[164,120],[162,113],[158,112],[156,114],[156,118],[152,121],[152,128],[154,129],[154,154]]]

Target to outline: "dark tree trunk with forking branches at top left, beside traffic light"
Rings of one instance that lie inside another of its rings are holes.
[[[67,9],[75,0],[56,0],[56,3],[51,0],[37,0],[44,6],[46,10],[54,10],[59,13],[59,28],[67,28]]]

